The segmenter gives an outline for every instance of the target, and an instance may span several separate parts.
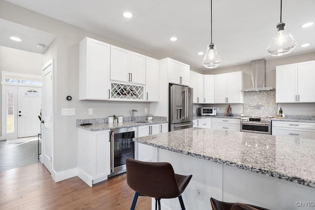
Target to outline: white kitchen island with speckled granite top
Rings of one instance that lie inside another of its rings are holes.
[[[154,161],[193,175],[183,193],[187,209],[211,209],[210,197],[268,209],[314,209],[314,140],[189,128],[134,141],[156,148]],[[176,199],[161,205],[180,209]]]

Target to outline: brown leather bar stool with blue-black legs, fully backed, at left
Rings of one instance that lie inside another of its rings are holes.
[[[134,210],[138,196],[156,199],[156,210],[161,209],[161,198],[178,197],[182,210],[185,210],[182,193],[192,175],[175,174],[170,163],[143,162],[126,158],[127,184],[135,191],[131,210]]]

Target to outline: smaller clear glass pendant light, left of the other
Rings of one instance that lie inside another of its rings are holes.
[[[211,0],[211,43],[207,45],[207,52],[202,60],[202,64],[206,68],[216,68],[220,64],[221,59],[217,53],[217,48],[214,43],[212,43],[212,0]]]

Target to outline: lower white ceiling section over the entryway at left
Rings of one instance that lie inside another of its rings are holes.
[[[22,41],[13,41],[9,36],[19,37]],[[37,44],[48,47],[55,38],[53,34],[0,19],[0,46],[42,54],[46,48],[38,48]]]

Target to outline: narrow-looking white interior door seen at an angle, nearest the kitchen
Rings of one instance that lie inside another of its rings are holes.
[[[53,60],[42,67],[42,154],[41,162],[53,170]]]

